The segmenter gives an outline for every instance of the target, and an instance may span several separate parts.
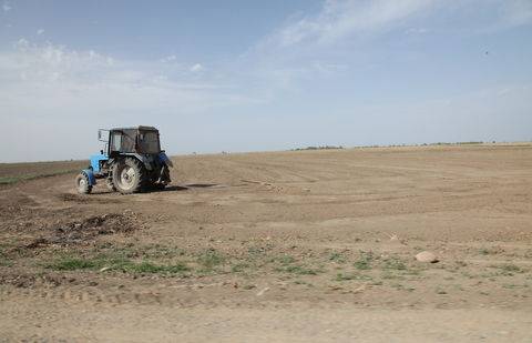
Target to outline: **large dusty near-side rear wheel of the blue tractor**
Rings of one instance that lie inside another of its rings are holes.
[[[113,184],[123,194],[142,191],[146,180],[144,165],[135,158],[117,161],[113,168]]]

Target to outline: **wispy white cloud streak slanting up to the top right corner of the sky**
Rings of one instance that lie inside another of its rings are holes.
[[[242,60],[252,61],[253,72],[269,83],[291,90],[308,78],[341,74],[346,69],[329,68],[324,73],[323,65],[370,68],[376,47],[385,49],[385,34],[398,42],[405,34],[466,37],[528,23],[532,23],[532,0],[325,0],[317,12],[289,18]]]

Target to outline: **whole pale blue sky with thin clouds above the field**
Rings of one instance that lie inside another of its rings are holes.
[[[532,140],[532,0],[0,0],[0,162]]]

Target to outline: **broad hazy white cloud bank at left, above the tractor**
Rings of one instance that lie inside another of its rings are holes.
[[[0,51],[0,113],[57,120],[80,112],[190,113],[253,101],[211,80],[186,78],[186,71],[21,39]]]

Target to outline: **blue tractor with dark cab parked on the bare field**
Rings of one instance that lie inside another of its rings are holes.
[[[161,150],[158,130],[153,127],[99,130],[98,139],[105,142],[105,152],[91,157],[91,165],[75,178],[79,193],[88,194],[96,179],[105,179],[110,190],[124,194],[150,189],[164,189],[173,167]]]

